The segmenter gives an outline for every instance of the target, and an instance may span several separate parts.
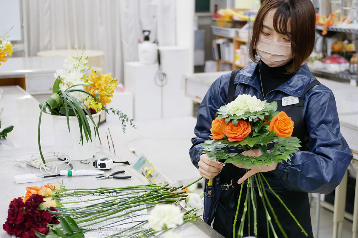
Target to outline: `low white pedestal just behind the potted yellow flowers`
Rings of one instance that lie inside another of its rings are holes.
[[[129,118],[133,118],[133,94],[130,92],[114,92],[111,98],[112,102],[106,104],[106,108],[113,107],[114,110],[119,109],[125,113]],[[112,112],[106,113],[106,122],[120,123],[118,115]]]

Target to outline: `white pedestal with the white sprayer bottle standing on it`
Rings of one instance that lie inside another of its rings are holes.
[[[158,65],[143,65],[140,62],[126,62],[124,85],[134,97],[134,119],[136,121],[159,119],[161,117],[161,89],[154,83]]]

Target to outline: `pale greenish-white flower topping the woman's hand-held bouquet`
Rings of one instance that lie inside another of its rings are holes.
[[[226,107],[226,113],[240,116],[245,112],[253,113],[261,111],[263,108],[263,102],[261,102],[260,99],[257,99],[256,96],[242,94],[237,96],[234,101],[228,103]]]

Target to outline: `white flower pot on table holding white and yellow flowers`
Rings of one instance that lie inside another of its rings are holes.
[[[101,113],[96,113],[92,115],[93,121],[98,122],[99,115]],[[88,116],[88,123],[91,127],[91,140],[86,141],[84,136],[83,128],[83,145],[81,142],[81,133],[79,131],[79,125],[77,117],[70,116],[69,119],[69,128],[68,132],[66,116],[54,116],[52,115],[54,135],[55,135],[55,151],[62,152],[71,155],[71,160],[82,160],[90,159],[96,155],[96,135],[95,129],[93,128],[93,123]],[[97,125],[97,124],[96,124]]]

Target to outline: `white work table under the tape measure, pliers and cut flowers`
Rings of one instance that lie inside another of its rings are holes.
[[[14,130],[9,133],[9,140],[0,140],[0,165],[2,167],[1,178],[3,187],[6,188],[0,195],[0,224],[4,224],[8,216],[9,203],[13,198],[24,196],[25,187],[43,186],[50,182],[63,183],[66,188],[98,188],[98,187],[124,187],[134,184],[147,184],[149,181],[131,166],[116,165],[106,174],[117,170],[125,170],[125,175],[131,175],[131,179],[104,179],[97,180],[95,176],[77,176],[77,177],[55,177],[38,178],[37,182],[16,184],[15,175],[34,173],[37,176],[42,175],[39,169],[27,164],[15,166],[13,155],[17,153],[38,152],[37,131],[40,108],[38,102],[19,86],[2,86],[4,89],[4,112],[0,116],[3,123],[2,128],[14,125]],[[41,122],[41,145],[43,151],[53,150],[53,127],[52,118],[43,115]],[[115,161],[134,161],[135,155],[132,154],[124,145],[121,148],[119,157],[100,146],[97,142],[97,155],[88,159],[89,164],[73,161],[74,169],[94,170],[92,162],[95,159],[103,157],[113,158]],[[66,168],[67,169],[67,168]],[[182,234],[183,237],[197,238],[220,238],[222,237],[202,220],[185,223],[183,226],[176,227],[174,232]],[[162,237],[159,235],[158,237]],[[0,229],[0,237],[10,238],[3,229]]]

